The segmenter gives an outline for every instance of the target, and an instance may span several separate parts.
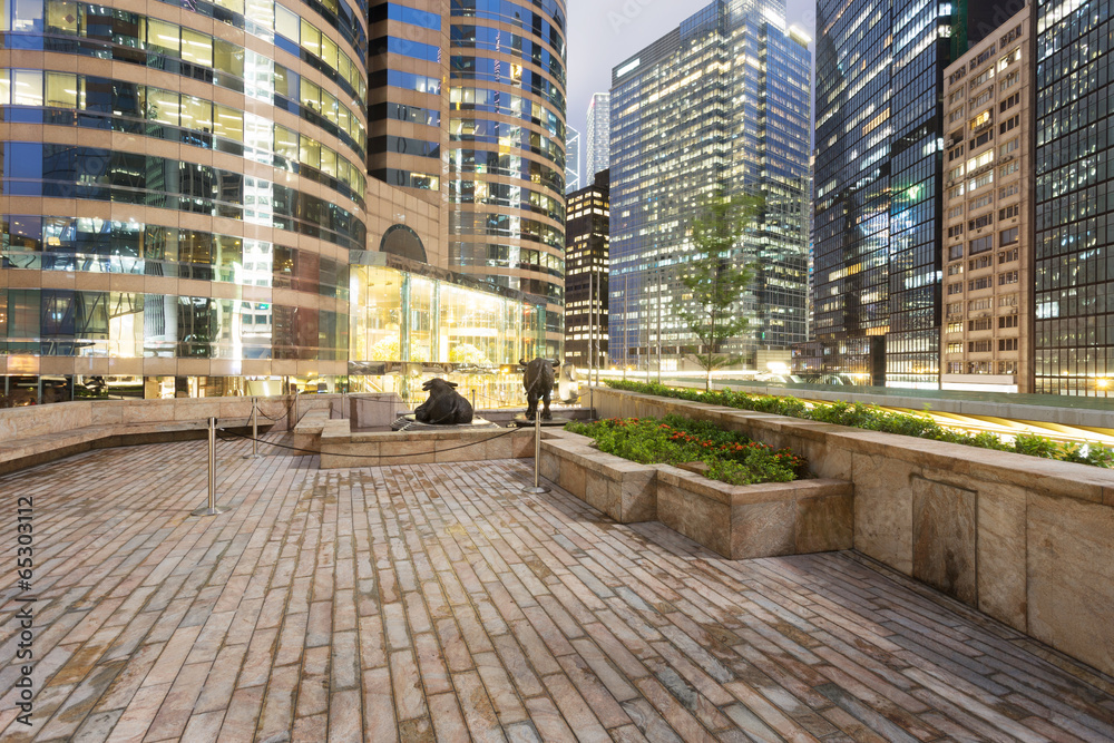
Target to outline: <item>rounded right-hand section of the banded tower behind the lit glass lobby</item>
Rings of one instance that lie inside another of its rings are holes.
[[[452,0],[449,266],[545,302],[545,354],[564,335],[564,0]]]

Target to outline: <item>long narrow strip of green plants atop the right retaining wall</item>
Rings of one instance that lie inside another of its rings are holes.
[[[961,443],[996,451],[1012,451],[1019,454],[1058,459],[1061,461],[1091,465],[1093,467],[1114,468],[1114,449],[1107,449],[1097,443],[1058,443],[1045,437],[1026,433],[1017,436],[1013,441],[1006,441],[995,433],[962,433],[945,428],[928,417],[888,412],[877,405],[860,402],[812,402],[810,404],[803,400],[790,397],[749,394],[732,390],[702,392],[698,390],[675,389],[665,387],[664,384],[624,382],[620,380],[608,381],[607,385],[616,390],[626,390],[627,392],[638,392],[641,394],[654,394],[662,398],[688,400],[690,402],[704,402],[713,405],[723,405],[724,408],[737,408],[739,410],[753,410],[775,416],[788,416],[790,418],[861,428],[869,431]]]

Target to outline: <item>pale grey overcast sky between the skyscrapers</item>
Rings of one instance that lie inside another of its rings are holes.
[[[815,38],[815,0],[785,2],[786,22]],[[582,170],[592,94],[610,90],[613,67],[706,4],[704,0],[568,0],[568,123],[580,131]]]

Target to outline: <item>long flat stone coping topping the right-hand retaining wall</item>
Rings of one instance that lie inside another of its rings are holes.
[[[818,444],[838,444],[852,452],[900,459],[932,469],[945,469],[954,472],[957,477],[1037,489],[1053,497],[1086,500],[1114,507],[1114,470],[1100,467],[1029,457],[1009,451],[979,449],[961,443],[868,431],[709,403],[688,402],[674,398],[659,398],[625,390],[597,389],[596,395],[600,402],[612,398],[624,407],[629,404],[637,409],[641,404],[647,409],[652,405],[659,409],[653,413],[647,411],[645,416],[638,417],[657,418],[668,413],[678,413],[709,420],[724,428],[743,429],[753,438],[765,440],[768,443],[774,436],[791,436],[811,440]],[[622,402],[624,398],[629,400]],[[815,467],[814,462],[810,462],[810,465]],[[839,472],[837,477],[849,475],[849,472]]]

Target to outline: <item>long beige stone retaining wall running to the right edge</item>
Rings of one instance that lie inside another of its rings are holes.
[[[619,390],[595,402],[792,449],[854,485],[854,549],[1114,674],[1114,471]]]

